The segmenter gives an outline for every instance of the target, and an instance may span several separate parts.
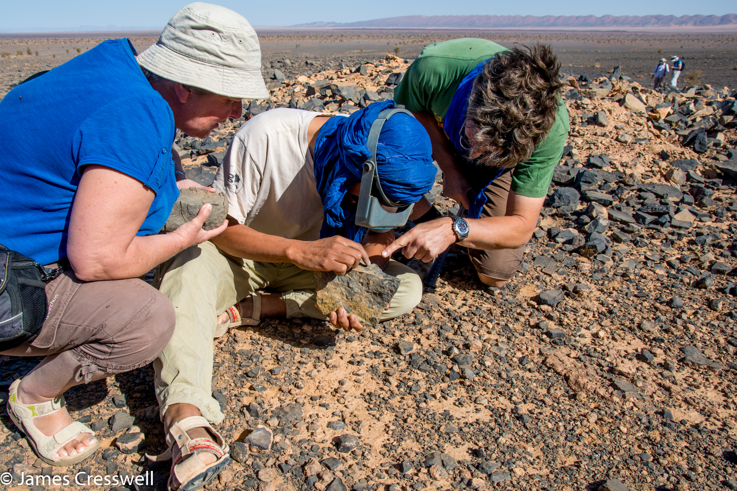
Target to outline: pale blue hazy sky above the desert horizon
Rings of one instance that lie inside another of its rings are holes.
[[[724,15],[737,12],[734,0],[706,3],[693,0],[219,0],[217,3],[242,14],[251,24],[262,26],[366,21],[397,15]],[[35,0],[29,3],[0,0],[0,31],[76,29],[84,26],[161,28],[184,4],[181,0]]]

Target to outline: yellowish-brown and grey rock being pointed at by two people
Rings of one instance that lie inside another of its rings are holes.
[[[323,314],[345,308],[347,314],[354,314],[366,325],[377,325],[399,288],[399,280],[376,264],[357,266],[343,276],[315,271],[314,281],[318,308]]]

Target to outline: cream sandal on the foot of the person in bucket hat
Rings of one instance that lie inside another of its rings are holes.
[[[99,448],[99,440],[94,445],[87,447],[81,452],[77,452],[73,456],[60,457],[55,456],[57,451],[73,439],[77,439],[77,435],[88,433],[94,436],[94,431],[83,425],[79,421],[73,421],[64,428],[57,431],[51,437],[46,437],[43,431],[39,430],[33,420],[37,417],[48,416],[57,411],[64,409],[66,402],[64,396],[38,404],[24,404],[18,402],[17,392],[18,384],[21,379],[18,378],[8,389],[7,414],[13,420],[15,426],[26,434],[29,444],[35,451],[36,455],[46,462],[57,467],[65,467],[67,465],[76,464],[91,456]]]

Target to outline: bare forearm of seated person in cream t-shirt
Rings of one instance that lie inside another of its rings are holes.
[[[303,242],[256,232],[251,227],[238,224],[230,217],[225,232],[212,238],[211,241],[228,255],[265,263],[293,262],[290,250]]]

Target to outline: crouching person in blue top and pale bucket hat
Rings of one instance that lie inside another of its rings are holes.
[[[35,339],[1,347],[46,356],[13,382],[8,403],[43,462],[67,466],[99,447],[71,422],[66,389],[142,367],[170,339],[174,308],[137,278],[226,228],[202,229],[205,205],[159,234],[179,188],[197,186],[172,153],[175,131],[205,138],[241,116],[241,99],[268,97],[260,66],[245,18],[196,3],[146,52],[105,41],[0,102],[0,141],[14,143],[0,155],[0,244],[63,270],[46,284],[49,314]]]

